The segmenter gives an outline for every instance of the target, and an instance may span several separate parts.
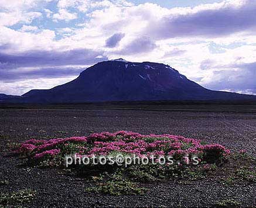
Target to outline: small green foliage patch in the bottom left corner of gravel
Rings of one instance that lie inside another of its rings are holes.
[[[11,193],[0,193],[0,204],[15,205],[29,203],[35,197],[36,192],[31,189],[18,190]]]

